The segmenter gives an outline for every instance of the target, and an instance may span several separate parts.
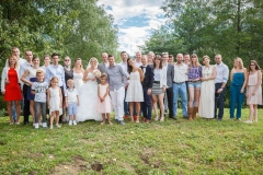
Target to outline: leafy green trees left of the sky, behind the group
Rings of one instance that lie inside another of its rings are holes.
[[[87,60],[116,54],[117,27],[96,0],[0,1],[1,65],[13,46]]]

